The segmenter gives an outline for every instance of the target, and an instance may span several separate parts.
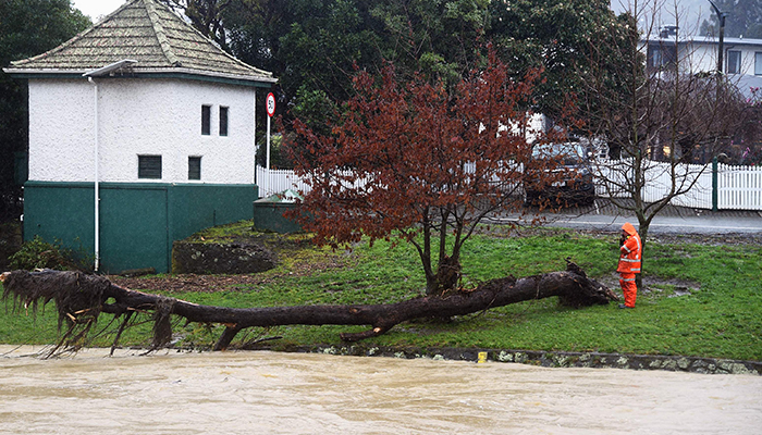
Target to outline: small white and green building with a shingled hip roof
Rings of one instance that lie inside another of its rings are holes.
[[[250,219],[256,89],[275,79],[164,5],[128,1],[4,71],[28,80],[25,239],[167,272],[173,240]]]

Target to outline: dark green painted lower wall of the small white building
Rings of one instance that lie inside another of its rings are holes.
[[[39,235],[95,251],[91,183],[27,182],[24,238]],[[170,272],[174,240],[200,229],[251,219],[255,185],[100,184],[100,253],[106,273],[153,268]]]

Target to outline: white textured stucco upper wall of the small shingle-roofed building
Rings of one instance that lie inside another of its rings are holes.
[[[184,79],[96,78],[99,178],[135,183],[254,183],[251,87]],[[201,135],[201,105],[211,134]],[[29,79],[29,179],[93,182],[94,85],[87,79]],[[228,136],[219,108],[229,108]],[[162,157],[161,179],[137,177],[138,154]],[[188,181],[188,157],[201,179]]]

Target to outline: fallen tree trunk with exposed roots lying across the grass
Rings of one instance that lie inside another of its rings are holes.
[[[97,275],[81,272],[44,270],[15,271],[2,275],[3,300],[13,307],[33,308],[36,312],[53,300],[59,328],[67,331],[58,347],[76,346],[106,313],[122,318],[113,341],[118,346],[121,333],[136,312],[152,312],[152,348],[167,346],[172,338],[170,319],[177,315],[187,322],[222,324],[214,350],[226,349],[236,334],[255,326],[279,325],[369,325],[360,333],[343,333],[341,338],[356,341],[384,334],[395,325],[421,318],[451,318],[484,311],[521,301],[553,296],[569,307],[605,304],[617,300],[606,286],[589,278],[575,263],[567,260],[566,271],[552,272],[516,279],[513,276],[486,282],[475,289],[458,289],[442,296],[426,296],[389,304],[296,306],[268,308],[226,308],[201,306],[175,298],[131,290]],[[113,349],[112,347],[112,349]]]

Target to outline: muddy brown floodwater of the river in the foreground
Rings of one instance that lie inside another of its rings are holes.
[[[0,346],[0,434],[760,434],[762,376]]]

